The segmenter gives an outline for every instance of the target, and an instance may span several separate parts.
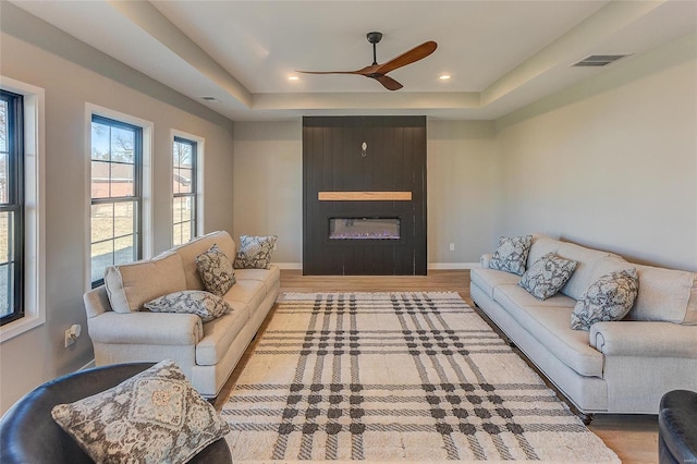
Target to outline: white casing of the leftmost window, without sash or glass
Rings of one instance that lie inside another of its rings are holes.
[[[0,75],[24,97],[24,317],[0,328],[0,343],[46,322],[46,97],[41,87]]]

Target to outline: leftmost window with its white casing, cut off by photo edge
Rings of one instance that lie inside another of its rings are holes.
[[[44,101],[0,76],[0,342],[46,321]]]

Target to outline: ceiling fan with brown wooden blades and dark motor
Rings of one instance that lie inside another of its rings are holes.
[[[414,47],[409,51],[406,51],[399,57],[391,59],[388,62],[378,64],[376,44],[382,39],[382,33],[368,33],[366,34],[368,41],[372,44],[372,64],[365,66],[356,71],[297,71],[305,74],[357,74],[366,77],[374,78],[384,86],[388,90],[399,90],[402,88],[402,84],[386,75],[390,71],[394,71],[398,68],[412,64],[415,61],[423,60],[424,58],[436,51],[438,44],[432,40],[425,41],[424,44]]]

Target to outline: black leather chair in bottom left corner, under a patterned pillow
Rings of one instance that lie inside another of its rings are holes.
[[[0,463],[93,463],[77,442],[51,417],[51,408],[115,387],[155,363],[115,364],[69,374],[37,387],[0,420]],[[192,463],[232,463],[225,439],[209,444]]]

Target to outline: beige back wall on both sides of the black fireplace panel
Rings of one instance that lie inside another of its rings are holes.
[[[235,237],[278,234],[272,260],[284,266],[303,261],[302,135],[299,120],[235,123]],[[498,210],[493,123],[429,121],[427,149],[428,261],[477,262],[489,249]]]

